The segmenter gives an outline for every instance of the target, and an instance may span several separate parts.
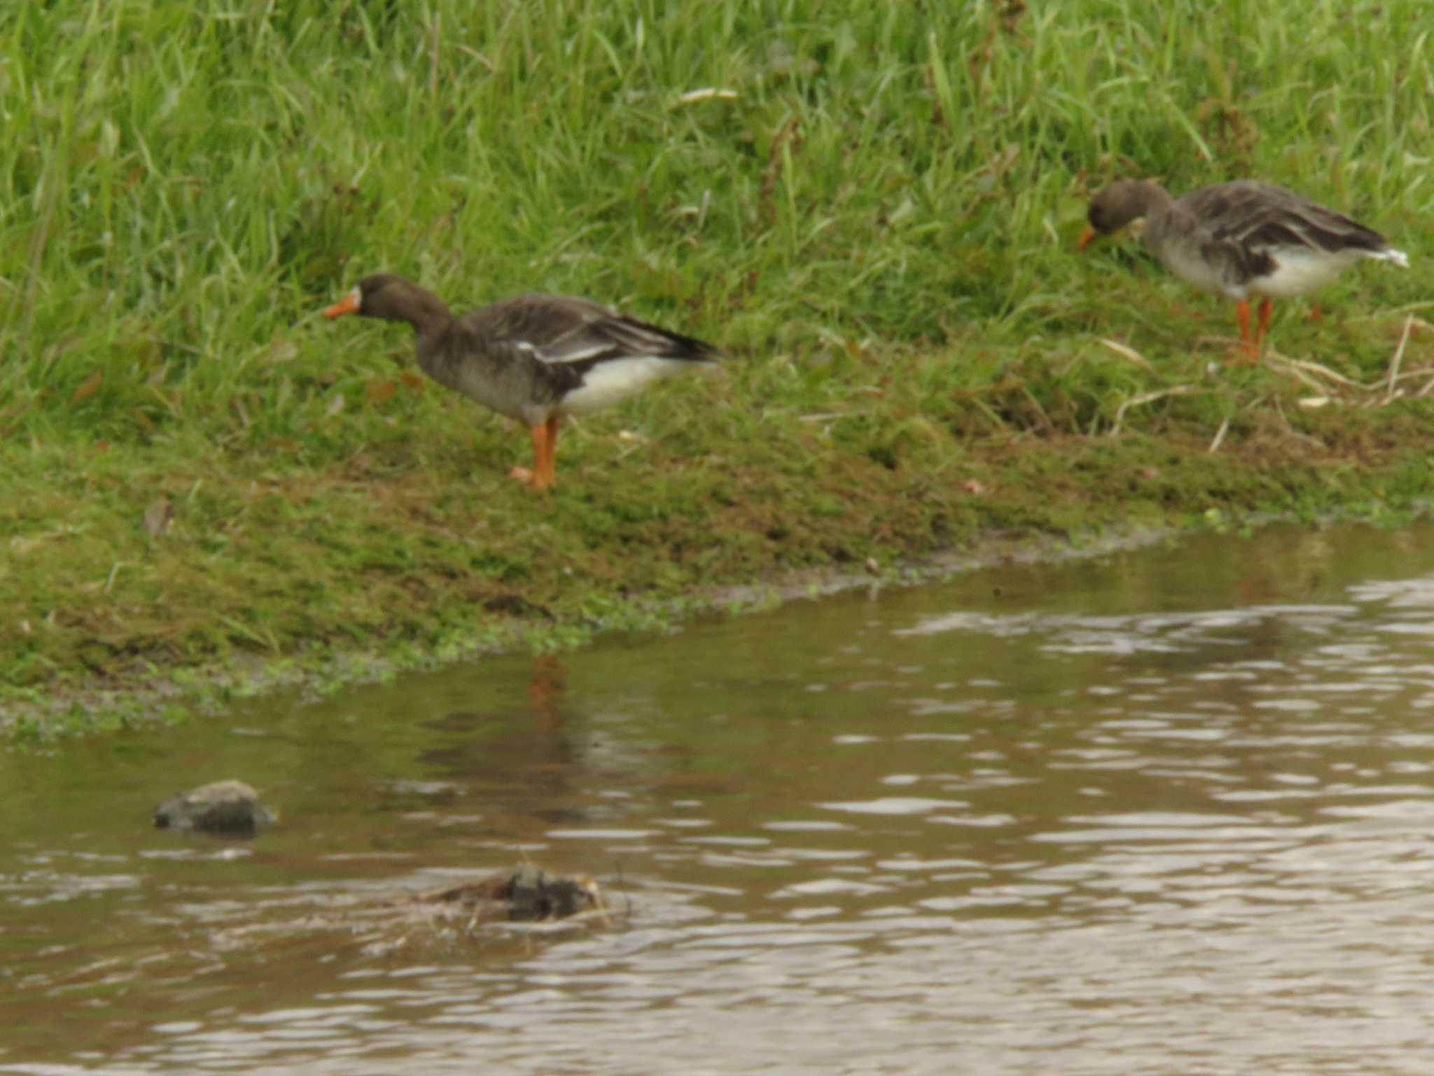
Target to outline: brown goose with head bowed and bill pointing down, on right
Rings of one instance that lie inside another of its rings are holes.
[[[1206,291],[1236,301],[1240,343],[1258,356],[1275,298],[1324,287],[1361,258],[1408,268],[1402,251],[1344,214],[1292,191],[1236,179],[1172,198],[1157,184],[1121,179],[1090,201],[1080,248],[1144,217],[1141,240],[1167,270]],[[1250,333],[1249,297],[1262,296]]]

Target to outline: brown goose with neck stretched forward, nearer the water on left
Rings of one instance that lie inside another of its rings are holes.
[[[648,382],[711,369],[721,357],[701,340],[571,296],[516,296],[455,317],[432,291],[390,273],[364,277],[324,310],[324,317],[344,314],[407,321],[419,333],[426,374],[525,423],[533,466],[509,473],[533,489],[554,483],[564,415],[607,407]]]

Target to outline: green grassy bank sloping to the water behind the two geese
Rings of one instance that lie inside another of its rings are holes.
[[[1434,459],[1425,6],[1222,10],[0,13],[0,706],[581,638],[991,529],[1408,506]],[[1073,250],[1088,192],[1136,174],[1283,182],[1414,267],[1282,304],[1279,354],[1226,367],[1228,304]],[[728,376],[576,423],[532,496],[503,478],[526,439],[416,377],[406,329],[315,317],[380,268],[457,307],[622,303]]]

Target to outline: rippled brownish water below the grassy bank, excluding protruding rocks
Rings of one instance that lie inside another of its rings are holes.
[[[0,1073],[1423,1076],[1431,539],[1012,565],[0,758]],[[148,828],[228,776],[281,823]],[[334,925],[523,855],[621,921]]]

